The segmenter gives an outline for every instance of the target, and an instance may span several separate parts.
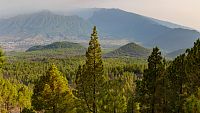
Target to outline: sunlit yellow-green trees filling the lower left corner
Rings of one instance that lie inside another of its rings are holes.
[[[0,70],[2,70],[4,61],[4,55],[1,50]],[[30,108],[32,90],[26,85],[20,84],[15,80],[4,79],[2,71],[0,74],[0,112],[7,113],[16,106],[18,106],[20,111],[23,108]]]

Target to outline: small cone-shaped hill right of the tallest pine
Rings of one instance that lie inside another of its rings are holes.
[[[150,50],[136,43],[128,43],[112,52],[104,55],[104,57],[137,57],[146,58],[150,54]]]

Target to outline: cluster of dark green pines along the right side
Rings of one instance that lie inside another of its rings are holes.
[[[199,113],[200,40],[168,65],[162,57],[155,57],[160,56],[155,50],[149,56],[144,78],[137,84],[141,112]]]

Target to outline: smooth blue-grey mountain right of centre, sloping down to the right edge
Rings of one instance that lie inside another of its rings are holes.
[[[95,11],[89,21],[98,26],[103,36],[125,38],[146,47],[157,45],[167,52],[188,48],[200,37],[191,28],[119,9]]]

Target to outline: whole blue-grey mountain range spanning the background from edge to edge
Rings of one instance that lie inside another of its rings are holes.
[[[1,19],[0,42],[11,50],[60,40],[86,42],[94,25],[101,40],[124,39],[144,47],[157,45],[166,52],[191,47],[200,37],[191,28],[120,9],[95,8],[74,14],[78,16],[41,11]]]

